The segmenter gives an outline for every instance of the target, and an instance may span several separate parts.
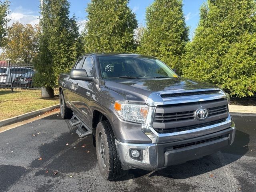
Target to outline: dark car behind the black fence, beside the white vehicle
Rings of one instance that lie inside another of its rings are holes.
[[[14,79],[14,87],[31,88],[33,85],[33,77],[36,74],[35,71],[25,73]]]

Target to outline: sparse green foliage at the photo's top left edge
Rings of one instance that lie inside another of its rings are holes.
[[[4,44],[4,38],[7,35],[7,23],[10,19],[7,18],[9,13],[10,2],[5,0],[4,2],[0,1],[0,47]]]

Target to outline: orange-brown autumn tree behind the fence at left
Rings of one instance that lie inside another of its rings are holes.
[[[38,26],[13,23],[8,29],[8,39],[3,47],[5,57],[12,62],[33,62],[38,53],[39,32]]]

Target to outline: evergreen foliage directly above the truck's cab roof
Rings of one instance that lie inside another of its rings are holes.
[[[138,22],[128,0],[92,0],[86,12],[85,52],[133,52]]]

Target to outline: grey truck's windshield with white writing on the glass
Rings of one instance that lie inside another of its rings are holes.
[[[166,64],[145,56],[99,56],[103,78],[167,78],[178,76]]]

